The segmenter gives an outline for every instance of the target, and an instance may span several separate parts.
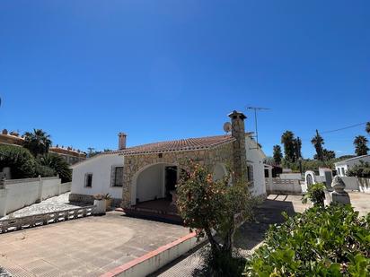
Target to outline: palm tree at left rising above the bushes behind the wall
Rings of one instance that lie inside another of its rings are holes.
[[[23,147],[31,151],[35,157],[47,153],[50,146],[50,135],[41,129],[33,129],[33,133],[24,133]]]

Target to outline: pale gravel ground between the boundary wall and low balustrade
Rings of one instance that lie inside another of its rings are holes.
[[[34,203],[30,206],[24,207],[18,211],[11,212],[6,216],[0,218],[0,220],[22,217],[34,214],[40,214],[45,212],[57,212],[68,209],[78,208],[84,205],[84,203],[69,203],[68,196],[70,193],[58,195],[55,197],[48,198],[40,203]]]

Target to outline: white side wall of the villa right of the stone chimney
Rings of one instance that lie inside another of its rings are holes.
[[[265,168],[263,160],[266,158],[263,151],[257,149],[257,143],[251,137],[245,137],[245,150],[247,151],[248,165],[253,167],[254,186],[251,188],[253,195],[265,195]]]

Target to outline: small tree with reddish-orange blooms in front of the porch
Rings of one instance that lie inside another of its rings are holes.
[[[210,275],[238,275],[231,266],[235,261],[233,235],[239,223],[251,218],[253,197],[247,184],[229,186],[229,176],[215,180],[209,169],[192,162],[189,167],[177,186],[181,218],[190,230],[196,230],[198,238],[207,236],[213,270]],[[240,275],[242,266],[239,270]]]

